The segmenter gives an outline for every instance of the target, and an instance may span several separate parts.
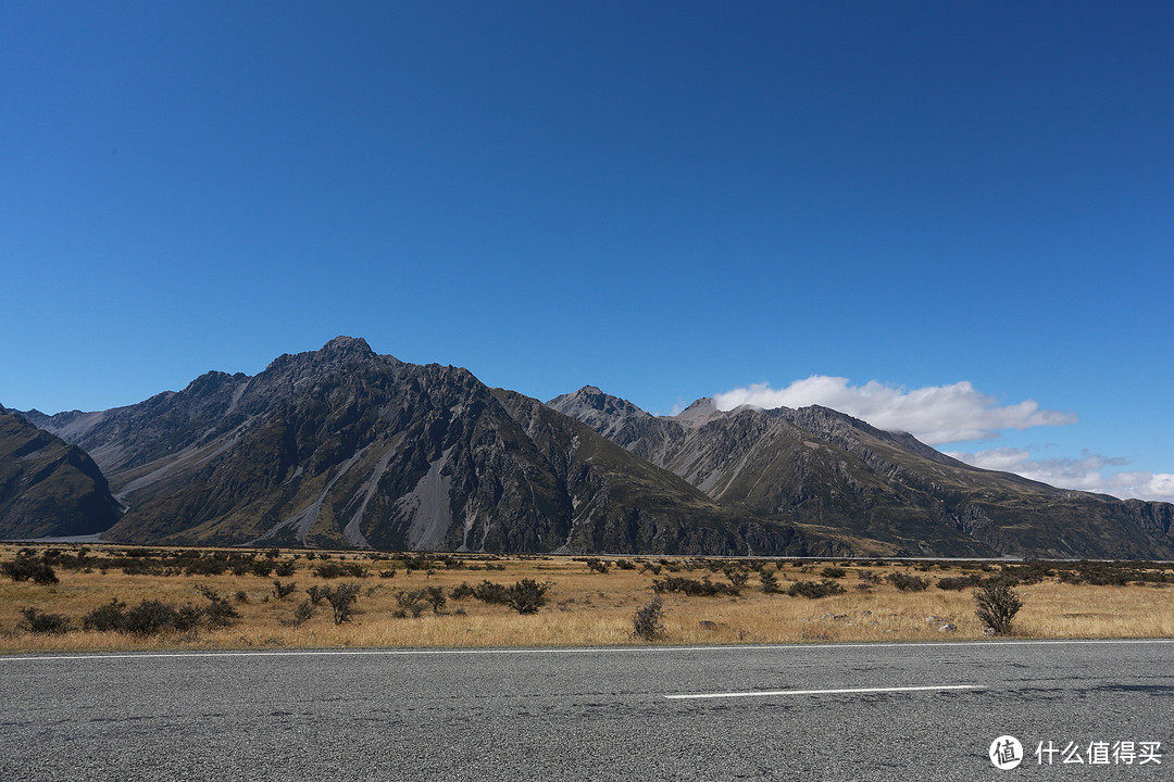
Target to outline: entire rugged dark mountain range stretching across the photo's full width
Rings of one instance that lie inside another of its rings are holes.
[[[722,412],[699,400],[653,416],[594,387],[544,404],[346,336],[127,407],[2,413],[6,537],[101,529],[154,544],[1174,556],[1169,503],[981,470],[826,408]],[[29,467],[18,441],[31,436],[73,448],[74,461],[88,454],[99,504],[122,511],[82,523],[63,499],[27,499],[31,482],[6,476]]]

